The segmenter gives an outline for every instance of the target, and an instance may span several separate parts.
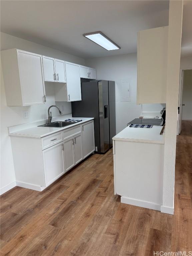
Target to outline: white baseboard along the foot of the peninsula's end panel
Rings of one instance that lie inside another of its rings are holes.
[[[125,196],[121,196],[121,203],[131,204],[131,205],[144,207],[144,208],[157,210],[157,211],[161,210],[161,205],[160,204],[156,204],[156,203],[152,203],[152,202],[148,202],[148,201],[143,201],[143,200],[137,200],[137,199],[133,199],[133,198],[125,197]]]

